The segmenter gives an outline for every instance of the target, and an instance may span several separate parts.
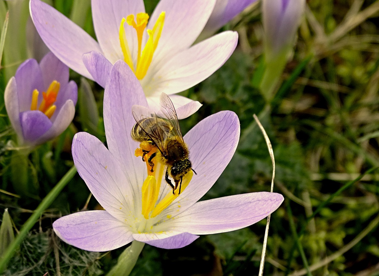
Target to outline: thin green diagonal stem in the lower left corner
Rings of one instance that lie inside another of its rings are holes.
[[[39,220],[45,209],[49,207],[50,204],[52,204],[55,198],[60,194],[61,190],[74,177],[76,172],[77,170],[75,166],[72,166],[70,170],[63,176],[63,178],[58,182],[58,184],[56,184],[55,187],[47,194],[47,196],[45,196],[45,198],[38,205],[37,209],[34,210],[34,213],[22,226],[19,234],[16,236],[16,239],[14,239],[14,241],[9,245],[8,249],[3,254],[2,258],[0,258],[0,273],[3,272],[9,260],[13,257],[14,253],[16,253],[16,248],[20,246],[23,239],[25,239],[30,229]]]

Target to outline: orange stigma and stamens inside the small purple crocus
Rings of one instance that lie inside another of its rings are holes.
[[[52,117],[56,109],[56,105],[53,103],[56,101],[56,96],[58,95],[59,88],[60,83],[58,83],[58,81],[52,81],[47,91],[42,92],[43,100],[39,105],[38,110],[44,112],[44,114],[49,117],[49,119]],[[34,89],[33,95],[31,96],[30,110],[37,110],[38,95],[39,91],[37,89]]]

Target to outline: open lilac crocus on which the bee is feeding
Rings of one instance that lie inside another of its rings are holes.
[[[282,195],[268,192],[197,202],[236,150],[240,122],[231,111],[207,117],[184,136],[197,175],[187,173],[182,192],[173,195],[162,177],[163,169],[157,167],[160,163],[148,174],[141,157],[135,156],[139,143],[130,134],[136,123],[133,104],[147,107],[142,87],[128,65],[117,61],[104,94],[108,148],[83,132],[75,135],[72,144],[75,166],[105,210],[77,212],[56,220],[54,231],[65,242],[89,251],[108,251],[133,240],[180,248],[199,234],[249,226],[282,203]]]

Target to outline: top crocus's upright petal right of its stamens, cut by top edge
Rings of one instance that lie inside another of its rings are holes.
[[[175,55],[191,46],[207,23],[215,3],[215,0],[161,0],[147,25],[152,30],[161,12],[166,12],[152,62],[166,62],[167,56]]]

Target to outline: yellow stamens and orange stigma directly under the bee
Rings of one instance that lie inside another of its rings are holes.
[[[159,215],[164,209],[166,209],[172,201],[179,196],[178,190],[175,190],[175,194],[170,191],[162,200],[158,203],[159,190],[163,179],[163,172],[166,165],[163,162],[158,161],[157,157],[153,157],[149,164],[149,158],[153,153],[157,153],[159,150],[155,145],[151,145],[148,142],[142,142],[141,148],[137,148],[135,156],[143,156],[147,166],[147,178],[142,185],[142,214],[144,218],[149,219]],[[147,153],[146,153],[147,152]],[[153,172],[151,171],[153,169]],[[183,177],[181,192],[183,192],[188,186],[193,176],[193,172],[190,170]]]

